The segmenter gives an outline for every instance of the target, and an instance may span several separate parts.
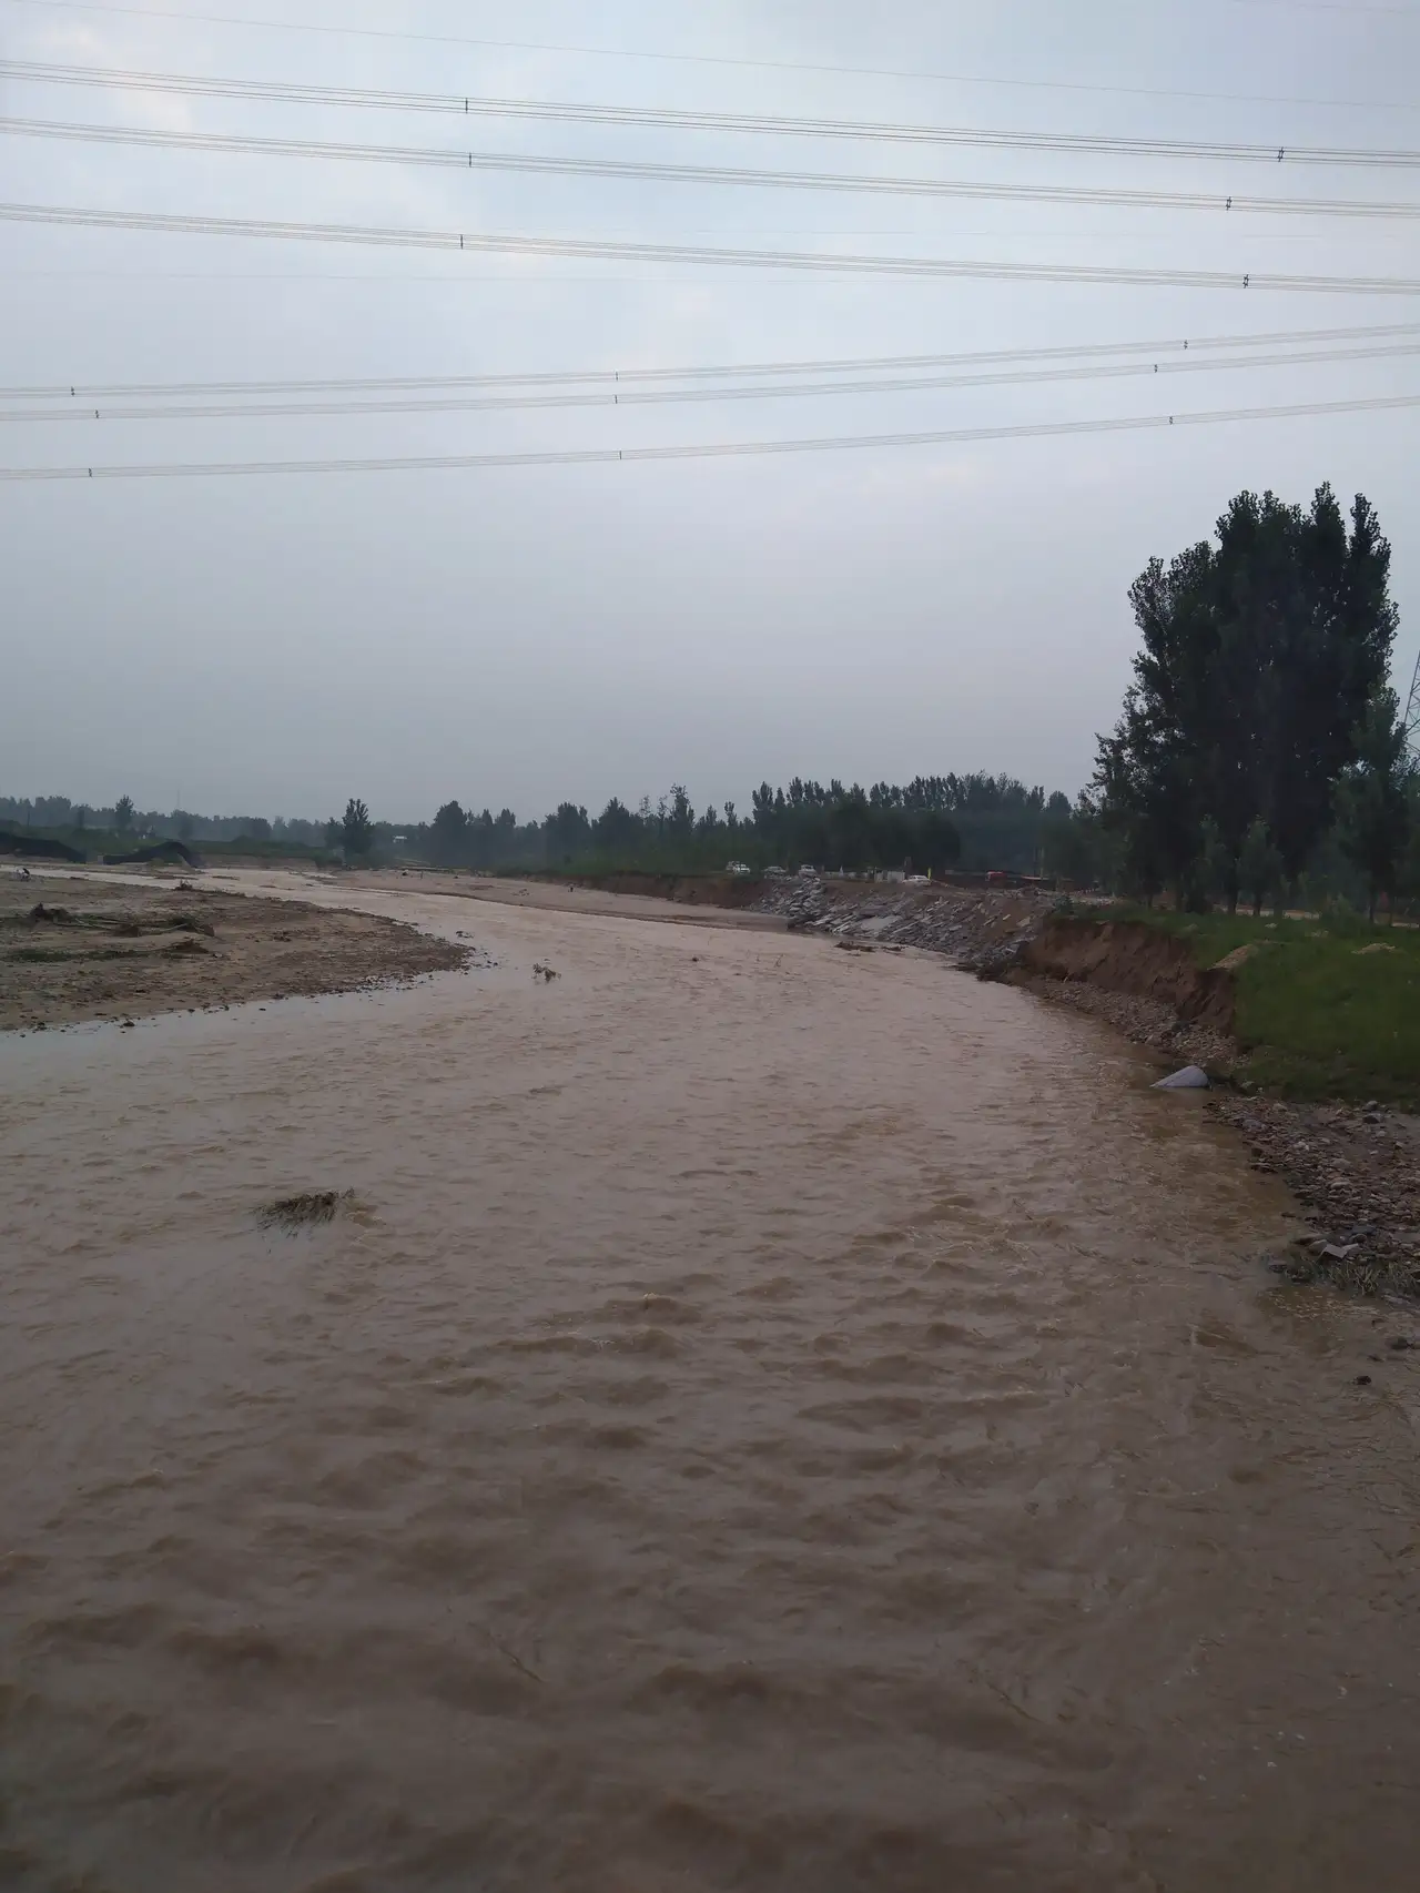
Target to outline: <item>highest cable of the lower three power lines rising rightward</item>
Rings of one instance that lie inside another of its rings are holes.
[[[814,356],[799,362],[733,362],[695,367],[593,367],[524,375],[394,375],[337,380],[165,380],[49,382],[0,388],[6,401],[169,399],[184,396],[369,394],[428,388],[545,388],[568,382],[638,384],[668,380],[748,380],[765,375],[871,375],[914,369],[1000,367],[1011,362],[1079,362],[1108,356],[1198,354],[1210,348],[1301,348],[1318,343],[1384,343],[1420,337],[1420,322],[1344,329],[1267,329],[1261,335],[1168,335],[1153,341],[1077,343],[1053,348],[979,348],[966,354]]]

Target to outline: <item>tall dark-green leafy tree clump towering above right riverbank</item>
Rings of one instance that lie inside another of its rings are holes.
[[[1397,613],[1371,504],[1348,530],[1329,487],[1308,509],[1242,492],[1217,543],[1149,560],[1128,596],[1142,647],[1094,786],[1138,892],[1189,892],[1204,820],[1231,905],[1257,822],[1295,878],[1386,687]]]

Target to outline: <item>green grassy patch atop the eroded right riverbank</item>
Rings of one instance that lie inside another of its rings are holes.
[[[1378,1098],[1420,1109],[1420,929],[1350,914],[1136,912],[1187,939],[1200,965],[1238,946],[1236,1035],[1248,1075],[1297,1098]]]

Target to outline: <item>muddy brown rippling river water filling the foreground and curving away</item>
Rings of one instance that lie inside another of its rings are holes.
[[[0,1043],[0,1885],[1416,1884],[1405,1321],[1197,1100],[926,958],[365,903],[496,965]]]

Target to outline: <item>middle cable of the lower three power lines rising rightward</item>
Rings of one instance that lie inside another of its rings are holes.
[[[1075,367],[1045,369],[1005,369],[977,375],[913,375],[882,380],[795,380],[795,382],[757,382],[752,386],[699,386],[699,388],[634,388],[612,386],[589,392],[557,394],[479,394],[479,396],[399,396],[382,401],[208,401],[176,403],[157,407],[0,407],[0,426],[17,422],[123,422],[123,420],[311,420],[311,418],[364,418],[377,415],[471,415],[471,413],[526,413],[528,409],[568,409],[568,407],[661,407],[687,401],[769,401],[769,399],[824,399],[843,394],[926,394],[947,388],[1007,388],[1034,386],[1038,382],[1062,380],[1121,380],[1140,375],[1214,375],[1227,369],[1259,367],[1306,367],[1320,362],[1378,362],[1397,356],[1420,354],[1420,341],[1409,345],[1390,345],[1378,348],[1314,348],[1299,354],[1265,356],[1221,356],[1221,358],[1180,358],[1172,362],[1111,362]]]

